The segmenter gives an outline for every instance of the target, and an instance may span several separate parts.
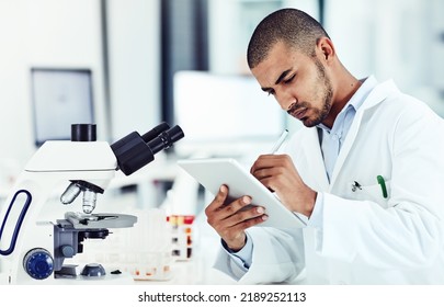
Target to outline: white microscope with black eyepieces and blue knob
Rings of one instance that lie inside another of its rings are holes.
[[[133,132],[109,145],[96,140],[95,125],[71,125],[71,140],[47,140],[30,159],[1,207],[0,284],[122,283],[119,271],[106,272],[100,263],[64,265],[83,252],[87,239],[105,239],[112,228],[133,227],[137,217],[93,213],[115,172],[130,175],[168,149],[184,134],[161,123],[144,135]],[[82,211],[56,212],[54,203],[68,205],[82,194]],[[56,195],[56,196],[55,196]],[[59,195],[59,196],[58,196]],[[52,198],[59,201],[52,203]],[[53,207],[52,207],[53,206]]]

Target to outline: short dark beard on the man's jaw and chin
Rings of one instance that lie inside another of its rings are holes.
[[[326,73],[326,69],[319,59],[315,58],[314,60],[316,68],[317,68],[317,81],[321,84],[321,89],[317,90],[318,95],[320,94],[320,100],[322,101],[322,105],[320,109],[311,107],[309,102],[295,102],[289,105],[287,113],[293,116],[297,112],[297,110],[307,109],[307,111],[311,112],[310,116],[300,118],[304,126],[306,127],[314,127],[322,123],[322,121],[329,115],[331,110],[331,99],[333,96],[333,89],[331,86],[330,78]],[[321,91],[319,93],[319,91]]]

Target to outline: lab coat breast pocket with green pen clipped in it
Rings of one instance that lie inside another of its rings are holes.
[[[375,202],[386,208],[388,206],[389,196],[390,181],[382,181],[380,183],[360,186],[352,183],[352,197],[355,200]]]

